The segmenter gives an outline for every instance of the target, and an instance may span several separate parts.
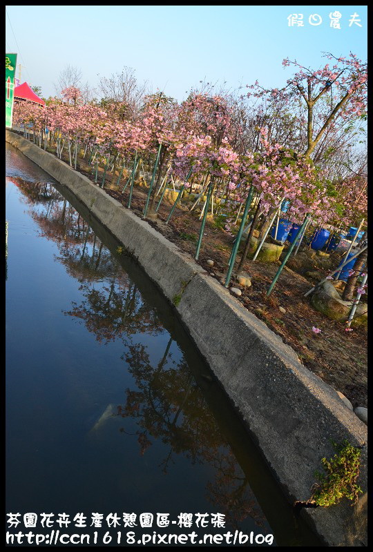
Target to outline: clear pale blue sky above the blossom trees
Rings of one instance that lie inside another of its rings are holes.
[[[290,14],[303,26],[289,26]],[[128,66],[180,101],[204,79],[281,88],[293,72],[285,57],[317,69],[322,52],[350,51],[367,58],[367,6],[6,6],[6,52],[44,97],[68,65],[93,87]]]

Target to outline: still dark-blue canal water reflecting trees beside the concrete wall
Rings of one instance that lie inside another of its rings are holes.
[[[127,531],[195,531],[184,545],[218,546],[199,539],[236,530],[318,546],[154,284],[9,144],[6,220],[6,511],[20,513],[17,531],[30,531],[23,515],[36,513],[34,533],[92,539],[68,546],[102,545],[106,531],[107,546],[118,546],[118,531],[122,546]],[[124,513],[135,525],[124,526]],[[151,526],[140,526],[142,513],[154,515]],[[213,526],[217,513],[224,527]]]

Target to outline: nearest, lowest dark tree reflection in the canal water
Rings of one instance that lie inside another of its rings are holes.
[[[248,516],[262,526],[262,513],[247,477],[220,433],[186,362],[167,362],[171,341],[157,366],[149,362],[144,345],[128,344],[124,359],[137,390],[126,390],[126,403],[118,406],[118,415],[137,420],[141,455],[151,446],[152,439],[160,439],[169,447],[160,464],[163,473],[167,473],[178,454],[192,464],[209,464],[214,478],[207,483],[207,498],[235,529],[240,529],[240,522]]]

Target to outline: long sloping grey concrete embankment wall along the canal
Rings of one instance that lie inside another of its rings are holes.
[[[296,353],[192,257],[79,172],[14,132],[6,140],[68,187],[137,259],[175,309],[247,424],[289,501],[307,501],[331,440],[362,446],[356,506],[301,515],[329,546],[367,545],[367,426]]]

